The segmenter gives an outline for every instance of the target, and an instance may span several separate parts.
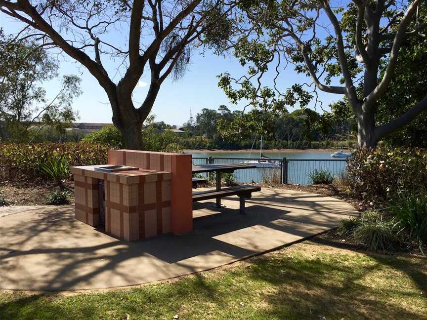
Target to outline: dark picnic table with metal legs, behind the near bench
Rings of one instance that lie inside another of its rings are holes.
[[[215,172],[216,173],[216,188],[215,192],[210,192],[213,196],[218,196],[216,199],[216,207],[221,206],[221,198],[220,198],[220,191],[221,191],[221,173],[233,173],[235,170],[241,170],[241,169],[253,169],[256,168],[256,165],[253,164],[246,164],[246,163],[217,163],[217,164],[198,164],[193,165],[192,173],[203,173],[203,172]],[[227,192],[223,192],[223,195],[231,195],[231,193],[234,191],[236,195],[239,195],[239,193],[242,193],[245,191],[245,188],[248,189],[248,192],[251,191],[247,186],[239,187],[239,188],[233,188],[233,190],[230,190],[231,188],[226,188]],[[254,187],[251,187],[254,189]],[[256,187],[260,189],[259,187]],[[225,191],[225,189],[222,189]],[[254,191],[259,191],[255,190]],[[253,191],[252,191],[253,192]],[[208,192],[204,192],[203,194],[207,194]],[[199,193],[199,198],[203,197],[202,193]],[[242,198],[244,200],[244,198]],[[243,204],[244,205],[244,204]]]

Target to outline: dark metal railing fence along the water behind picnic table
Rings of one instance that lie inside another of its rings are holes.
[[[193,164],[245,163],[254,158],[193,158]],[[310,184],[310,174],[317,170],[329,171],[334,177],[345,173],[345,159],[270,159],[280,165],[278,168],[254,168],[234,171],[234,178],[240,183],[286,183]],[[209,176],[206,175],[208,178]]]

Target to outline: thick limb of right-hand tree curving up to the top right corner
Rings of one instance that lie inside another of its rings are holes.
[[[417,6],[421,0],[414,0],[411,5],[406,10],[402,20],[400,21],[399,28],[394,37],[393,45],[391,47],[390,57],[388,60],[387,68],[385,69],[383,79],[375,87],[375,89],[364,99],[364,105],[370,106],[373,105],[387,90],[388,85],[390,84],[394,70],[397,64],[397,58],[399,55],[400,45],[402,44],[403,39],[405,38],[406,28],[411,21],[412,16],[414,15]]]

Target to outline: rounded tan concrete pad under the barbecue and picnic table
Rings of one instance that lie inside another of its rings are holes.
[[[0,218],[0,288],[95,289],[164,280],[215,268],[310,237],[355,215],[341,200],[262,189],[239,200],[194,204],[194,232],[126,242],[74,219],[73,206],[42,206]]]

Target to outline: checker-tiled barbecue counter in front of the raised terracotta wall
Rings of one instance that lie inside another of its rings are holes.
[[[93,227],[99,225],[98,187],[104,180],[106,233],[131,241],[171,232],[170,172],[103,173],[94,167],[71,168],[76,219]]]

